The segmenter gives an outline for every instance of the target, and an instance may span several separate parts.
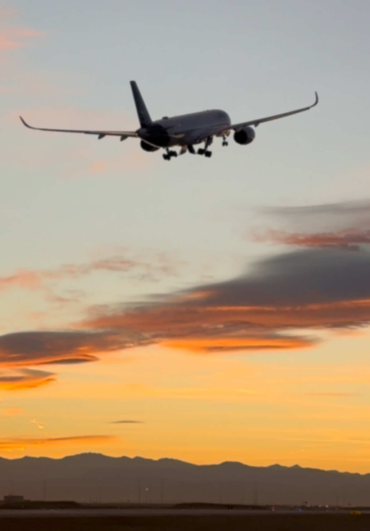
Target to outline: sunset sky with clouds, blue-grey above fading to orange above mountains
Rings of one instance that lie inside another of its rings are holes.
[[[370,472],[368,2],[0,4],[0,456]],[[210,108],[252,144],[165,162]]]

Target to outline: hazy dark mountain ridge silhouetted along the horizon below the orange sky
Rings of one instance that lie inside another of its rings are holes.
[[[11,492],[31,500],[80,502],[370,505],[370,474],[101,453],[0,458],[0,498]]]

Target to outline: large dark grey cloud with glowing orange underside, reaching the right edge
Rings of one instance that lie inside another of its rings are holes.
[[[106,307],[81,326],[130,330],[191,352],[315,345],[294,330],[370,322],[370,254],[304,249],[257,261],[245,275],[169,294],[136,309]]]

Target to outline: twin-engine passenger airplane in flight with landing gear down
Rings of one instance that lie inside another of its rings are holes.
[[[163,158],[171,160],[172,157],[177,157],[175,146],[180,147],[179,155],[184,155],[187,151],[195,154],[194,145],[204,142],[204,147],[197,150],[198,155],[204,155],[210,158],[212,151],[210,147],[213,136],[222,138],[222,145],[228,145],[227,138],[231,131],[234,131],[234,140],[238,144],[246,145],[253,142],[255,138],[255,131],[253,127],[257,127],[264,122],[270,122],[278,118],[284,118],[292,114],[302,113],[304,110],[311,109],[319,102],[319,96],[315,92],[315,102],[309,107],[303,107],[296,110],[290,110],[287,113],[276,114],[265,118],[257,118],[248,120],[247,122],[239,122],[231,124],[230,117],[225,111],[220,109],[203,110],[200,113],[184,114],[181,116],[168,117],[164,116],[160,120],[152,121],[145,106],[144,100],[141,96],[139,87],[135,81],[130,81],[131,90],[134,97],[137,116],[139,118],[140,127],[136,131],[87,131],[75,129],[47,129],[46,127],[32,127],[27,124],[22,116],[20,119],[26,127],[30,129],[37,129],[39,131],[54,131],[58,133],[83,133],[98,135],[98,140],[105,136],[119,136],[119,140],[126,140],[129,137],[139,138],[140,146],[144,151],[158,151],[165,149]]]

